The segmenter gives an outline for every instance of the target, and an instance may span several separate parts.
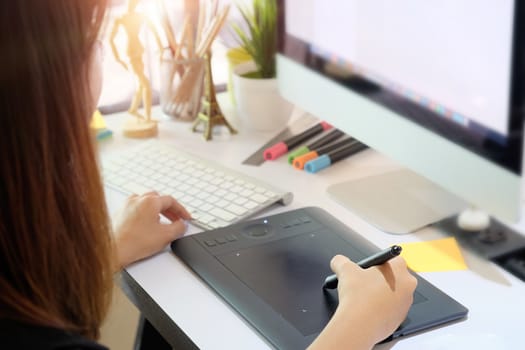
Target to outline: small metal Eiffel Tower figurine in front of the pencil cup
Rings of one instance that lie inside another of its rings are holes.
[[[204,71],[204,96],[201,101],[201,110],[197,119],[193,122],[192,131],[196,131],[199,124],[204,123],[204,139],[211,140],[212,130],[215,126],[224,125],[230,130],[230,133],[236,134],[237,131],[228,123],[221,108],[217,103],[215,95],[215,86],[213,84],[213,77],[211,74],[211,51],[205,55],[206,66]]]

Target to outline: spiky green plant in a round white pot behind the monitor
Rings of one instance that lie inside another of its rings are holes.
[[[288,122],[292,105],[277,88],[277,1],[252,0],[237,5],[243,24],[232,24],[240,48],[251,61],[233,68],[233,93],[244,126],[271,131]]]

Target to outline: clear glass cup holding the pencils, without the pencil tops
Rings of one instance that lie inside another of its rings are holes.
[[[201,108],[206,60],[162,58],[160,63],[160,104],[171,117],[193,121]]]

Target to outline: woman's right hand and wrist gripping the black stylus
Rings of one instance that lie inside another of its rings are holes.
[[[311,349],[371,349],[403,322],[417,280],[401,257],[362,269],[337,255],[330,266],[339,280],[339,306]]]

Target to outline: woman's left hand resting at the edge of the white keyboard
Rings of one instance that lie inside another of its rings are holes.
[[[170,223],[161,223],[160,214]],[[191,215],[172,196],[132,195],[115,221],[116,264],[121,269],[162,250],[186,232]]]

